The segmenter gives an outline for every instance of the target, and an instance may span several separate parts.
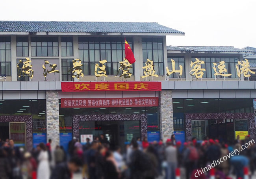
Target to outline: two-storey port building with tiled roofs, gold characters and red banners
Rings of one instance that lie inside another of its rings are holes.
[[[180,140],[225,131],[232,135],[223,140],[255,135],[256,86],[237,73],[237,61],[252,50],[167,46],[166,35],[184,33],[147,22],[1,21],[0,27],[2,139],[28,149],[52,139],[67,150],[72,137],[84,142],[100,134],[112,146],[173,133]],[[124,37],[136,59],[130,66],[122,63]],[[190,75],[197,59],[205,69],[198,79]],[[225,78],[214,75],[220,61]]]

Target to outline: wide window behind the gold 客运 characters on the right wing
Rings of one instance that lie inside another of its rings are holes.
[[[198,57],[192,57],[192,61],[195,62]],[[224,61],[225,68],[227,69],[226,74],[231,74],[231,76],[225,77],[225,78],[238,78],[237,71],[236,71],[236,65],[237,61],[239,61],[239,58],[236,57],[199,57],[198,58],[201,61],[204,61],[204,64],[201,64],[201,68],[204,68],[206,71],[204,71],[203,78],[215,78],[214,70],[213,70],[213,62],[218,63],[220,61]],[[221,75],[218,75],[218,78],[224,78]]]

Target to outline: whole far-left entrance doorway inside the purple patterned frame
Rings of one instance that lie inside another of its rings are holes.
[[[25,122],[0,122],[0,138],[13,139],[15,146],[25,147],[26,123]]]

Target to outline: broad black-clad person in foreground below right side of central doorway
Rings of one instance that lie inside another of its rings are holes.
[[[131,179],[145,179],[146,171],[151,170],[151,164],[148,156],[139,150],[137,142],[133,142],[133,151],[129,164]]]

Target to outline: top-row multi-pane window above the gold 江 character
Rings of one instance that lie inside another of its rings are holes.
[[[58,57],[58,37],[31,37],[32,57]]]

